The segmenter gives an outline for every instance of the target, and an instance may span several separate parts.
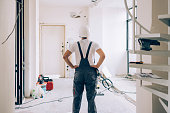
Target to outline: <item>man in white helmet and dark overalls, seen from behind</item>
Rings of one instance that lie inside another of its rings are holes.
[[[63,56],[65,62],[75,69],[73,81],[73,113],[79,113],[84,86],[86,88],[86,97],[88,101],[88,113],[97,113],[95,105],[97,69],[103,63],[105,54],[99,45],[88,40],[89,29],[82,26],[79,31],[81,40],[75,42]],[[75,52],[76,65],[73,65],[68,59]],[[97,52],[100,56],[96,65],[94,65],[94,55]]]

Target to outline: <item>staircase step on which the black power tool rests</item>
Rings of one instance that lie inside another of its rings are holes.
[[[151,51],[144,51],[144,50],[133,50],[129,51],[131,54],[143,54],[143,55],[155,55],[155,56],[168,56],[170,57],[170,50],[151,50]]]

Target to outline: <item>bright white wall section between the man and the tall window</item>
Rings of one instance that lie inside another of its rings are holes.
[[[111,74],[126,74],[126,11],[124,8],[103,8],[104,65]]]

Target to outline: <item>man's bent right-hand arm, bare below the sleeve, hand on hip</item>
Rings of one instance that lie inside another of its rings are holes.
[[[104,54],[102,49],[98,49],[98,50],[96,50],[96,52],[99,54],[100,58],[99,58],[99,61],[97,62],[97,64],[96,65],[91,65],[91,67],[99,68],[100,65],[103,63],[103,61],[105,59],[105,54]]]

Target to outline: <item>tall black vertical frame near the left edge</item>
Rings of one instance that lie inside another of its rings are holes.
[[[24,98],[24,0],[16,0],[15,27],[15,104],[21,105]]]

